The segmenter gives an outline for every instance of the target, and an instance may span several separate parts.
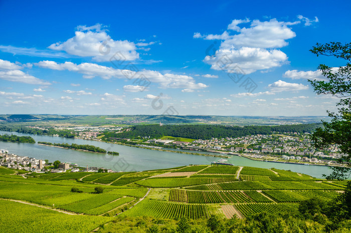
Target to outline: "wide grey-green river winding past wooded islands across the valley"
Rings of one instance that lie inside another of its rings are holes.
[[[83,167],[88,165],[89,167],[104,167],[116,171],[142,171],[178,167],[189,164],[211,164],[212,161],[219,159],[217,157],[157,151],[100,141],[0,131],[0,134],[11,133],[19,136],[31,136],[34,138],[36,143],[31,144],[0,141],[0,149],[7,149],[9,150],[9,153],[14,153],[19,156],[29,156],[43,160],[48,159],[50,162],[60,160],[61,162],[77,163],[79,166]],[[38,141],[68,144],[89,144],[103,148],[106,151],[119,152],[119,156],[38,145]],[[186,151],[198,153],[198,151]],[[327,166],[255,161],[236,155],[232,155],[232,158],[228,158],[228,163],[238,166],[252,166],[261,168],[275,167],[277,169],[305,173],[316,178],[322,178],[322,174],[329,174],[331,172]]]

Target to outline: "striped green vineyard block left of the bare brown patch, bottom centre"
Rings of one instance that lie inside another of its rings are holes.
[[[143,200],[133,208],[125,211],[123,216],[153,216],[156,218],[175,218],[185,216],[187,218],[208,218],[209,213],[206,205],[183,204],[156,200]]]

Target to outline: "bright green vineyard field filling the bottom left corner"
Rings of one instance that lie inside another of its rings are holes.
[[[69,215],[28,204],[0,200],[0,229],[7,233],[89,232],[112,217]]]

